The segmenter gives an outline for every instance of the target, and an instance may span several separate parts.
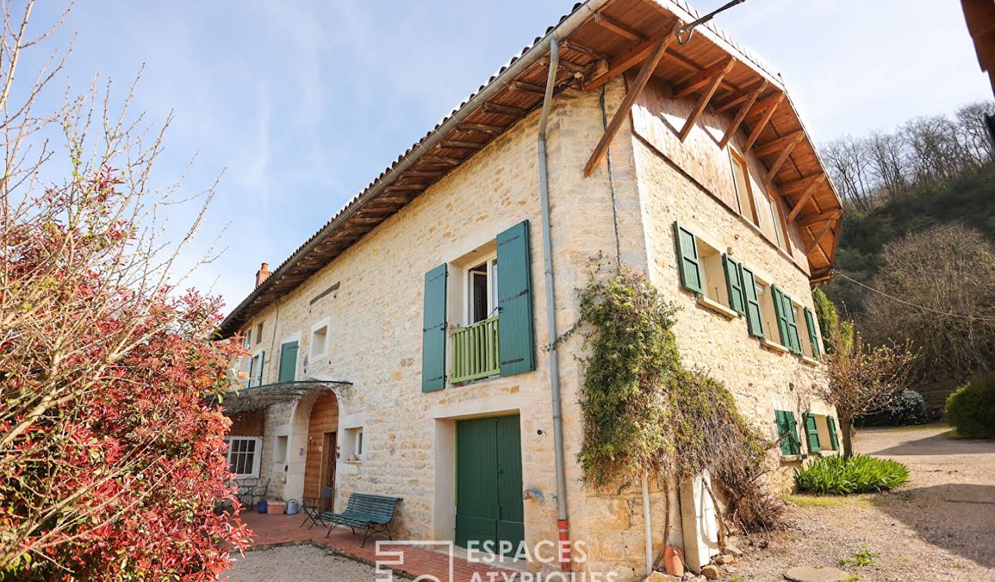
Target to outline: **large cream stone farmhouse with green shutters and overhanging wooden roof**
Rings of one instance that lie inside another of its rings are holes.
[[[273,497],[403,497],[395,539],[583,542],[540,572],[717,551],[699,484],[588,490],[578,317],[598,257],[679,307],[685,362],[781,441],[838,449],[811,288],[841,204],[781,77],[683,0],[574,7],[272,273],[221,327],[251,357],[229,457]],[[667,514],[668,496],[672,507]],[[666,524],[671,538],[664,539]],[[649,548],[648,548],[649,544]],[[649,552],[648,552],[649,549]]]

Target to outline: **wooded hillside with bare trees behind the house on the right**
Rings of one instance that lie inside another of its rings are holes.
[[[846,213],[823,291],[876,343],[911,341],[932,408],[995,365],[995,102],[822,149]]]

